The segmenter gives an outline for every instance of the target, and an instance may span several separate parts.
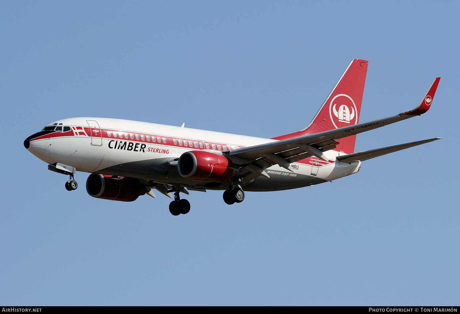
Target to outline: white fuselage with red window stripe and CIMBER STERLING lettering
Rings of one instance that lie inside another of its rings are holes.
[[[193,181],[181,177],[170,162],[190,150],[216,154],[276,140],[213,131],[106,118],[70,118],[48,126],[67,127],[30,139],[29,151],[48,164],[62,163],[77,171],[135,177],[190,188],[226,189],[227,183]],[[70,131],[68,131],[70,129]],[[325,152],[329,162],[309,157],[292,163],[287,171],[277,165],[270,176],[246,183],[247,191],[300,188],[356,173],[360,163],[340,163],[335,150]],[[232,160],[232,156],[230,156]],[[235,164],[241,160],[233,158]]]

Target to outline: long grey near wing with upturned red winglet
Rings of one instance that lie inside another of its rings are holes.
[[[248,171],[248,173],[244,174],[245,181],[252,180],[260,175],[268,177],[264,170],[275,164],[288,169],[290,163],[311,156],[316,156],[328,161],[323,152],[334,149],[336,145],[339,144],[341,138],[387,126],[398,121],[412,118],[415,115],[424,114],[431,107],[431,102],[439,80],[439,77],[434,80],[430,89],[426,92],[425,97],[423,97],[420,104],[413,110],[391,117],[345,126],[334,130],[235,149],[230,151],[229,155],[248,161],[247,166],[244,167],[244,169]]]

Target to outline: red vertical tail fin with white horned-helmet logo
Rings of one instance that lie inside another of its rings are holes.
[[[366,60],[353,59],[310,125],[302,131],[273,139],[282,140],[357,124],[367,70]],[[356,135],[342,138],[335,150],[351,154],[355,150],[355,140]]]

